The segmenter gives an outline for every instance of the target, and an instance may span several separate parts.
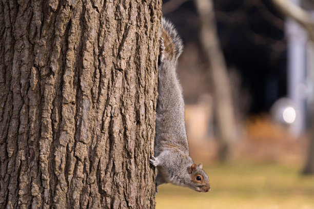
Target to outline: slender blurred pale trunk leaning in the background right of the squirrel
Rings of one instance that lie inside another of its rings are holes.
[[[214,98],[214,116],[217,119],[219,159],[226,162],[231,157],[232,143],[237,139],[227,67],[219,46],[211,0],[194,0],[200,14],[200,40],[210,64],[210,78]]]

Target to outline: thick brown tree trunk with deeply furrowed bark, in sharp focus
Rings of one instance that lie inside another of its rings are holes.
[[[161,1],[0,3],[0,208],[154,208]]]

